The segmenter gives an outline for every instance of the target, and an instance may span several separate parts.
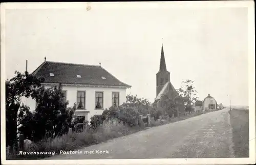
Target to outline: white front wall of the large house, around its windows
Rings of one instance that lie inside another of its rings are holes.
[[[51,86],[45,86],[50,88]],[[119,104],[126,101],[126,89],[124,88],[103,88],[103,87],[80,87],[80,86],[62,86],[62,89],[67,91],[67,100],[69,106],[73,106],[77,101],[77,91],[86,91],[86,109],[77,109],[76,115],[87,116],[86,119],[90,121],[91,116],[101,115],[105,108],[112,105],[112,92],[119,92]],[[95,92],[103,92],[103,109],[95,109]],[[23,103],[30,106],[30,110],[34,111],[36,101],[32,98],[23,98]],[[89,111],[89,113],[84,113]]]

